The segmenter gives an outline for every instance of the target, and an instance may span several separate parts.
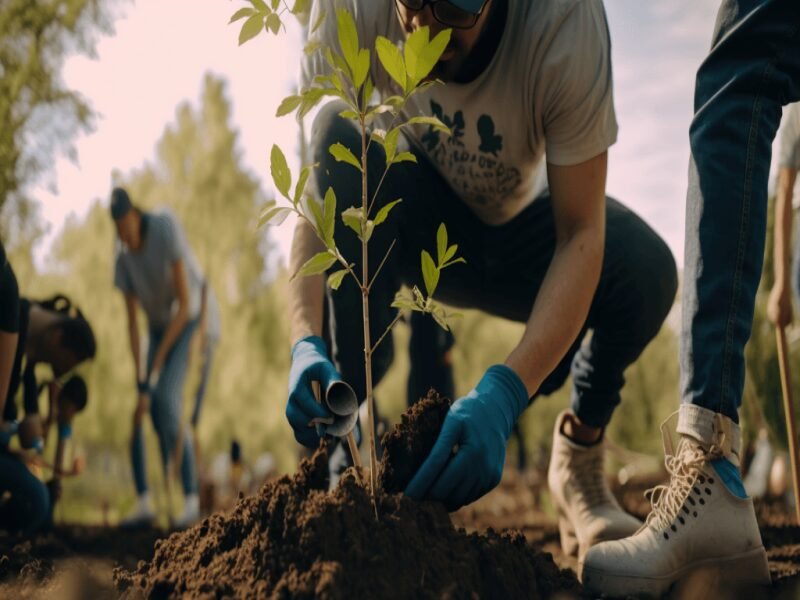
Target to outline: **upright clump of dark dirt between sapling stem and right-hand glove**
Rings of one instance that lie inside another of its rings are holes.
[[[384,491],[396,494],[406,489],[431,453],[448,410],[450,400],[430,390],[400,417],[399,425],[383,436],[378,482]]]

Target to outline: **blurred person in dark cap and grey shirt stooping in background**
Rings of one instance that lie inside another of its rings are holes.
[[[181,457],[184,508],[175,525],[185,527],[198,519],[200,504],[192,429],[182,426],[183,386],[190,342],[201,316],[206,319],[208,335],[216,338],[219,334],[217,303],[183,229],[168,209],[142,211],[123,188],[117,187],[111,192],[111,217],[121,242],[114,264],[114,285],[125,297],[137,390],[131,439],[137,505],[122,524],[147,526],[155,519],[142,430],[142,419],[149,410],[166,477],[171,476],[176,457]],[[137,325],[140,306],[147,315],[149,331],[144,363]]]

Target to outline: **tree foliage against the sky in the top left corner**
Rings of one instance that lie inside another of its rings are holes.
[[[74,158],[72,139],[93,111],[61,78],[73,52],[91,55],[111,31],[116,0],[3,0],[0,3],[0,237],[25,242],[29,188],[58,154]],[[6,205],[8,205],[6,207]],[[22,235],[20,235],[22,234]]]

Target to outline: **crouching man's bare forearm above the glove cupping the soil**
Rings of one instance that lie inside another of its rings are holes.
[[[556,248],[522,340],[506,359],[532,396],[581,331],[600,281],[605,228],[582,229]]]

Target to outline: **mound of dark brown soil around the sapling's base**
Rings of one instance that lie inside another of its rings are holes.
[[[402,489],[433,444],[447,401],[429,394],[384,437],[380,481]],[[425,450],[427,448],[427,450]],[[156,544],[118,569],[125,597],[547,598],[577,595],[572,572],[517,533],[456,529],[445,509],[381,489],[373,505],[348,470],[328,492],[320,448],[293,477],[265,484],[228,514]]]

